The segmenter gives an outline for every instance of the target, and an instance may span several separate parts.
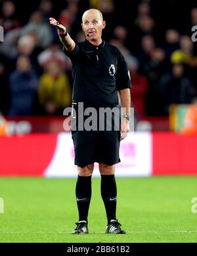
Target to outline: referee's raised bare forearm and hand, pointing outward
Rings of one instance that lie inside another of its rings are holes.
[[[66,51],[73,51],[74,48],[76,47],[76,43],[74,42],[74,40],[72,40],[68,32],[66,32],[65,26],[60,24],[60,22],[55,20],[55,18],[49,18],[49,20],[50,20],[50,24],[52,26],[55,26],[56,29],[58,30],[60,41],[65,46]]]

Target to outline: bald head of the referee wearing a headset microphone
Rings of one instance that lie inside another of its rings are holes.
[[[99,11],[90,10],[83,15],[81,26],[89,41],[99,41],[106,24],[102,21]]]

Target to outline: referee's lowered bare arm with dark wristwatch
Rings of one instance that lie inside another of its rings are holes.
[[[120,100],[121,100],[121,108],[123,108],[123,116],[130,114],[130,108],[131,108],[131,92],[130,89],[124,89],[119,91],[120,94]],[[121,139],[120,141],[123,141],[128,134],[129,134],[129,120],[127,120],[125,117],[121,119]]]

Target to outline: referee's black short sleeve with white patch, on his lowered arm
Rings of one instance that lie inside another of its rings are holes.
[[[118,73],[116,77],[116,86],[118,90],[130,89],[131,77],[127,68],[125,58],[118,50]]]

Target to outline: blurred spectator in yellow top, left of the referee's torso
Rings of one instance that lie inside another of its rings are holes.
[[[71,105],[71,88],[66,74],[57,61],[47,63],[46,72],[39,81],[39,101],[47,115],[62,115]]]

